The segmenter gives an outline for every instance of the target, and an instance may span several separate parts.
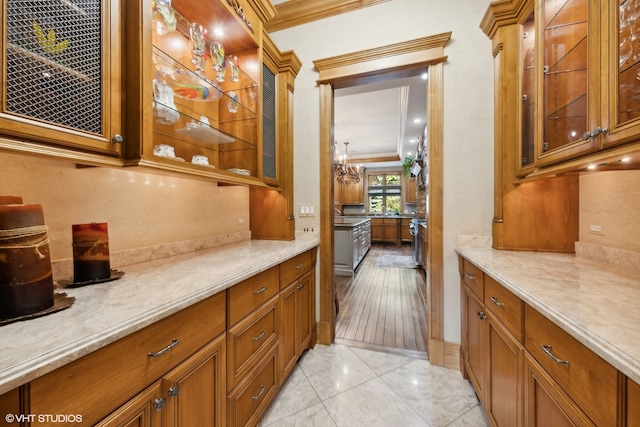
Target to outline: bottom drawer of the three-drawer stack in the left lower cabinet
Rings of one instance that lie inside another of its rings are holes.
[[[277,391],[277,345],[229,395],[229,426],[256,425]]]

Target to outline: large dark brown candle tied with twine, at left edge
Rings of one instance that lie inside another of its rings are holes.
[[[52,306],[51,257],[42,206],[0,204],[0,318]]]

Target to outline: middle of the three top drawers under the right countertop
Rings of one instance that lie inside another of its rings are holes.
[[[487,276],[484,304],[506,328],[522,342],[523,302],[504,286]]]

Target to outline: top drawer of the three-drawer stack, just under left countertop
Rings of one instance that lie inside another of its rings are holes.
[[[227,289],[229,326],[235,325],[280,291],[279,274],[276,266]]]

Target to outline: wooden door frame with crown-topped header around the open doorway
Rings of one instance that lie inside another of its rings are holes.
[[[318,342],[330,344],[335,338],[336,286],[333,273],[333,91],[335,89],[415,75],[429,68],[427,83],[427,123],[429,211],[427,257],[428,331],[427,353],[434,365],[445,365],[443,327],[442,250],[442,100],[444,46],[451,33],[416,39],[314,61],[319,71],[320,90],[320,308]]]

